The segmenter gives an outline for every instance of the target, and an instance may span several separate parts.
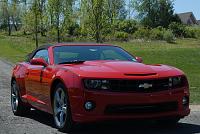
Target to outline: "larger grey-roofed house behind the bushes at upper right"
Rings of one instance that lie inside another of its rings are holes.
[[[180,14],[178,14],[178,16],[181,19],[183,24],[186,24],[186,25],[198,25],[199,24],[192,12],[180,13]]]

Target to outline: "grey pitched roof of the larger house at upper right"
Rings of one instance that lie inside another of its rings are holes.
[[[184,24],[188,24],[189,18],[192,18],[194,24],[197,23],[197,20],[192,12],[180,13],[178,16]]]

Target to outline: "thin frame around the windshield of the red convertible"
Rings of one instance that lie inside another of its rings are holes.
[[[128,51],[126,51],[125,49],[123,49],[123,48],[121,48],[121,47],[119,47],[119,46],[116,46],[116,45],[104,45],[104,44],[97,44],[97,45],[90,45],[90,44],[84,44],[84,45],[79,45],[79,44],[77,44],[77,45],[58,45],[58,46],[53,46],[52,47],[52,58],[53,58],[53,63],[54,64],[56,64],[56,65],[59,65],[59,63],[56,63],[56,61],[55,61],[55,48],[57,48],[57,47],[78,47],[78,46],[80,46],[80,47],[84,47],[84,46],[86,46],[86,47],[101,47],[101,46],[108,46],[108,47],[116,47],[116,48],[119,48],[119,49],[121,49],[122,51],[124,51],[128,56],[130,56],[130,57],[132,57],[132,59],[134,59],[134,60],[118,60],[118,61],[130,61],[130,62],[138,62],[137,61],[137,59],[136,59],[136,57],[134,56],[134,55],[132,55],[132,54],[130,54]],[[99,59],[99,60],[101,60],[101,59]],[[85,60],[85,61],[95,61],[95,60]],[[98,61],[98,60],[96,60],[96,61]],[[105,60],[106,61],[106,60]],[[117,60],[113,60],[113,61],[117,61]]]

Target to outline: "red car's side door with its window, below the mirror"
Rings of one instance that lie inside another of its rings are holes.
[[[39,50],[32,58],[43,58],[49,63],[48,51],[46,49]],[[38,109],[45,109],[45,91],[41,87],[42,72],[45,69],[42,65],[29,65],[25,76],[25,84],[27,90],[28,102]]]

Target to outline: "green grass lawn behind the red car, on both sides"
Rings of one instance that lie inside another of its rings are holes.
[[[112,42],[112,44],[142,57],[144,63],[168,64],[182,69],[189,79],[191,103],[200,104],[200,40],[178,39],[174,44],[161,41]],[[23,61],[34,48],[34,41],[31,38],[0,35],[0,57],[11,62]]]

